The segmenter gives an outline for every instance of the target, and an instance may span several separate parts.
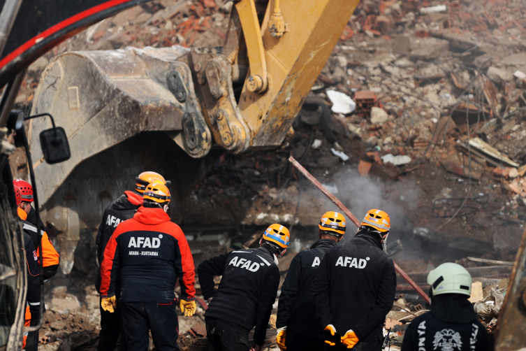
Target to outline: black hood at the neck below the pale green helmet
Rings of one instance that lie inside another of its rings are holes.
[[[476,320],[475,310],[465,294],[440,294],[431,298],[431,314],[450,323],[469,323]]]

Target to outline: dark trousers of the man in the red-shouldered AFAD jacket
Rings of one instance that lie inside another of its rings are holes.
[[[148,350],[148,330],[152,332],[155,350],[180,350],[177,345],[179,320],[175,303],[123,302],[121,305],[122,329],[128,351]]]

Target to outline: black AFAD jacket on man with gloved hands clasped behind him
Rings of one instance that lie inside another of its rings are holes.
[[[341,334],[352,329],[360,341],[377,341],[393,306],[396,273],[379,238],[360,233],[323,257],[312,296],[321,325],[333,324]],[[329,301],[324,301],[321,291],[327,285]]]

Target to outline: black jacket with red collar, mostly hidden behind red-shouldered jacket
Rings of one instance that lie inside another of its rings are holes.
[[[101,225],[98,226],[98,232],[95,239],[97,245],[97,258],[98,264],[102,263],[104,249],[108,245],[115,228],[120,222],[129,220],[135,215],[137,209],[143,205],[143,197],[136,192],[126,191],[119,199],[110,203],[110,205],[104,210]],[[117,282],[119,285],[119,282]],[[95,282],[97,292],[101,292],[101,270],[98,270],[97,280]],[[119,289],[117,289],[119,290]],[[119,291],[117,291],[117,297]]]

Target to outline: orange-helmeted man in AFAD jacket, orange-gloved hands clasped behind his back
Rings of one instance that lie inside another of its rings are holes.
[[[393,306],[395,265],[382,250],[390,219],[370,210],[356,236],[331,248],[312,282],[312,302],[325,330],[326,350],[381,350],[382,327]]]

